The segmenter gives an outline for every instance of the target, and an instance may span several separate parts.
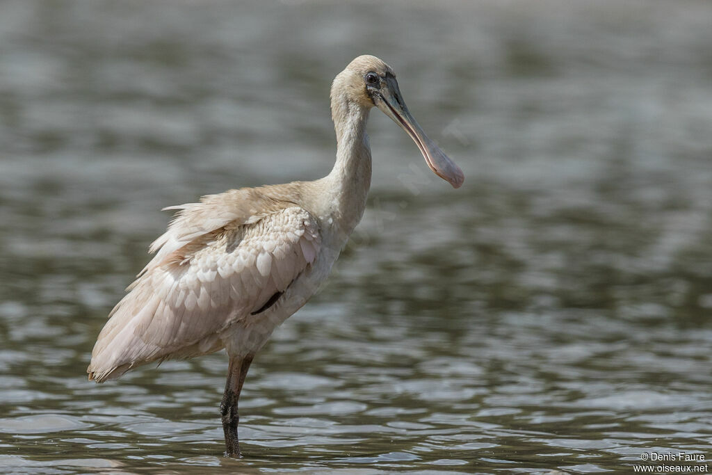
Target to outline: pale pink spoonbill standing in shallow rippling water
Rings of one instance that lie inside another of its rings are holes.
[[[145,363],[225,349],[220,414],[228,457],[241,456],[238,400],[253,358],[327,278],[365,211],[370,110],[407,132],[435,174],[454,188],[464,182],[462,170],[413,118],[396,74],[381,59],[351,61],[336,75],[330,100],[337,152],[327,176],[165,208],[174,217],[111,310],[87,368],[89,380],[105,382]]]

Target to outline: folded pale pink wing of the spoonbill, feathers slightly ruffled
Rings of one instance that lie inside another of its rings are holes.
[[[316,259],[320,230],[305,209],[268,202],[249,216],[250,206],[242,216],[225,207],[220,218],[205,209],[210,199],[184,205],[152,244],[156,256],[99,335],[90,379],[219,350],[221,330],[274,303]]]

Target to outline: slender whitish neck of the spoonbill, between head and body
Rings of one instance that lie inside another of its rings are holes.
[[[331,114],[336,130],[336,163],[326,177],[333,193],[330,214],[345,234],[363,216],[371,186],[371,149],[366,134],[368,109],[333,98]]]

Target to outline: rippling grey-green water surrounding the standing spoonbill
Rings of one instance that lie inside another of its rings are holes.
[[[708,2],[1,9],[0,471],[712,457]],[[258,355],[224,459],[223,354],[95,385],[90,350],[160,208],[328,171],[330,81],[362,53],[465,185],[372,114],[365,219]]]

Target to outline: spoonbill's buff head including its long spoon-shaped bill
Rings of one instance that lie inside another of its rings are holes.
[[[369,55],[355,58],[335,78],[332,96],[337,93],[361,108],[379,108],[410,135],[436,175],[454,188],[462,185],[462,170],[425,135],[405,105],[395,72],[382,60]]]

